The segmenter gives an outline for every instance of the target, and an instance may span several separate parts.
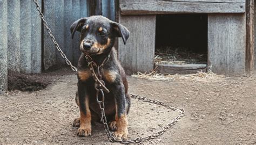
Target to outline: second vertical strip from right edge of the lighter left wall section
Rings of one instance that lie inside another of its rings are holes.
[[[31,1],[23,0],[20,2],[20,70],[22,73],[31,73]]]

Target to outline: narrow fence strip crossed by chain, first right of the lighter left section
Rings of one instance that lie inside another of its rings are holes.
[[[55,35],[55,25],[56,25],[56,19],[55,19],[55,2],[51,0],[44,0],[44,16],[45,19],[51,28],[51,31],[53,35]],[[47,70],[51,66],[56,64],[56,53],[55,53],[55,46],[52,43],[52,40],[50,38],[50,35],[47,33],[46,28],[44,27],[44,69]]]

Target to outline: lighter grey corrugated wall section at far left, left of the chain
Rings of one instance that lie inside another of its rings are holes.
[[[2,0],[0,11],[1,93],[7,88],[8,70],[41,73],[42,27],[31,0]]]

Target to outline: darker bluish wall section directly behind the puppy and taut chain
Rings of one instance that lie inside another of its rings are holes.
[[[60,48],[66,54],[73,65],[77,65],[79,51],[79,33],[71,39],[70,26],[79,18],[92,15],[103,15],[112,20],[115,19],[114,0],[43,0],[44,15],[46,21],[55,35]],[[44,28],[43,40],[43,66],[47,70],[50,67],[65,65],[49,35]]]

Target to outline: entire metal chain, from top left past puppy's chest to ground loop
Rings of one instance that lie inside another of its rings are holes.
[[[42,10],[37,2],[37,0],[33,0],[33,2],[36,4],[36,9],[37,11],[39,12],[39,15],[43,21],[43,24],[46,28],[46,31],[48,32],[48,34],[50,35],[51,37],[51,40],[53,42],[53,44],[55,45],[56,49],[58,50],[58,52],[60,53],[60,55],[63,57],[63,59],[65,60],[65,62],[71,67],[71,69],[75,72],[77,72],[77,68],[74,67],[72,65],[72,63],[68,60],[68,58],[66,57],[66,55],[63,53],[62,49],[60,49],[58,43],[56,42],[56,39],[55,37],[52,35],[52,32],[48,26],[48,23],[46,22],[46,20],[44,19],[44,14],[42,13]],[[185,110],[183,110],[183,108],[177,108],[177,107],[172,107],[172,106],[169,106],[169,105],[166,105],[164,104],[163,102],[160,102],[158,100],[154,100],[154,99],[149,99],[149,98],[146,98],[146,97],[142,97],[142,96],[139,96],[139,95],[133,95],[131,94],[131,97],[134,98],[134,99],[138,99],[138,100],[142,100],[143,102],[149,102],[149,103],[153,103],[153,104],[157,104],[157,105],[161,105],[161,106],[164,106],[166,108],[169,108],[173,111],[178,111],[179,112],[179,115],[172,119],[171,122],[169,124],[167,124],[166,126],[162,127],[162,129],[160,131],[158,131],[157,133],[155,134],[151,134],[151,135],[148,135],[148,136],[145,136],[145,137],[137,137],[136,139],[130,139],[130,140],[117,140],[114,138],[114,136],[112,135],[112,133],[110,132],[109,130],[109,126],[107,125],[107,120],[106,120],[106,116],[105,116],[105,106],[104,106],[104,92],[108,92],[109,90],[106,89],[105,87],[105,83],[104,81],[102,80],[102,75],[100,75],[100,71],[99,71],[99,68],[100,66],[97,67],[97,73],[95,73],[95,70],[93,68],[93,65],[92,63],[90,63],[90,70],[92,71],[92,74],[94,79],[95,79],[95,89],[96,89],[96,99],[97,99],[97,103],[99,104],[99,107],[100,107],[100,110],[101,110],[101,121],[103,122],[104,124],[104,129],[105,129],[105,132],[106,132],[106,135],[107,135],[107,138],[109,139],[110,142],[119,142],[119,143],[140,143],[142,141],[145,141],[145,140],[151,140],[151,139],[154,139],[155,137],[159,136],[159,135],[162,135],[164,132],[166,132],[167,129],[169,129],[170,127],[172,127],[174,124],[176,124],[182,117],[184,117],[184,113],[185,113]],[[99,99],[99,94],[101,95],[101,100]]]

